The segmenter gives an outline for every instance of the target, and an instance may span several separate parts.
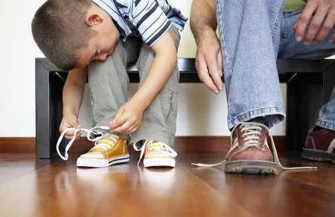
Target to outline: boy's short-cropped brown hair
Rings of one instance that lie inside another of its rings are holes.
[[[79,50],[95,34],[85,24],[90,0],[48,0],[32,20],[32,35],[46,58],[57,67],[74,69]]]

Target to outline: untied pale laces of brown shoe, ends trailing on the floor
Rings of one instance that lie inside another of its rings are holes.
[[[310,170],[310,169],[317,169],[317,167],[311,167],[311,166],[304,166],[304,167],[293,167],[293,168],[286,168],[283,165],[281,165],[281,162],[279,161],[279,157],[278,157],[278,153],[276,150],[276,146],[274,145],[274,139],[272,137],[272,135],[270,134],[269,129],[264,125],[264,124],[260,124],[257,122],[245,122],[243,124],[241,124],[240,126],[242,126],[241,131],[245,132],[243,133],[243,137],[245,137],[245,143],[243,146],[243,149],[247,149],[250,147],[257,147],[259,145],[259,137],[257,135],[261,134],[260,130],[261,127],[265,127],[267,129],[267,133],[269,133],[270,135],[270,139],[271,139],[271,144],[272,144],[272,151],[274,154],[274,163],[276,163],[276,165],[278,166],[278,168],[280,168],[281,170]],[[235,126],[232,130],[232,132],[234,132],[235,128],[237,126]],[[232,134],[230,135],[230,141],[232,141]],[[230,151],[227,153],[227,155],[234,150],[234,148],[236,148],[237,146],[237,138],[234,140],[234,144],[233,146],[230,148]],[[334,142],[334,146],[335,146],[335,142]],[[216,166],[216,165],[220,165],[222,163],[226,163],[226,160],[223,160],[219,163],[213,163],[213,164],[205,164],[205,163],[191,163],[192,165],[197,165],[199,167],[212,167],[212,166]]]

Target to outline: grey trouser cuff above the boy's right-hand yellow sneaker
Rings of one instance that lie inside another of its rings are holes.
[[[136,132],[136,135],[130,135],[130,144],[141,140],[157,140],[161,141],[167,146],[174,144],[174,136],[162,132]]]

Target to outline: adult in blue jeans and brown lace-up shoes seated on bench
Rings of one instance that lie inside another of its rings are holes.
[[[199,78],[214,93],[222,91],[225,78],[232,131],[226,172],[272,173],[281,168],[267,144],[269,128],[285,117],[276,59],[331,56],[334,21],[335,0],[193,1]],[[335,88],[307,135],[303,157],[335,163],[334,146]]]

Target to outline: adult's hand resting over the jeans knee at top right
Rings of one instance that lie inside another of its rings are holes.
[[[312,21],[307,27],[311,19]],[[313,42],[321,43],[332,30],[334,22],[335,0],[309,0],[298,22],[294,25],[296,41],[303,40],[305,45]],[[333,41],[335,41],[334,33],[329,38],[329,42]]]

